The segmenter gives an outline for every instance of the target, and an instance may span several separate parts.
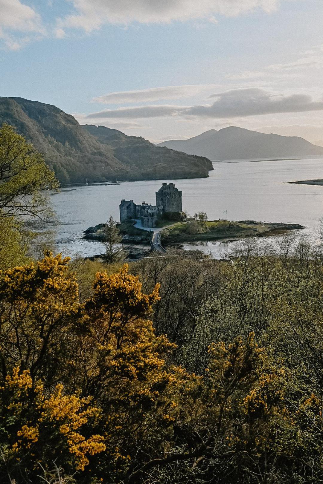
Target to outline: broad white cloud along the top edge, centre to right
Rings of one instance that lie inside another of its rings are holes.
[[[71,0],[75,13],[58,19],[57,28],[100,29],[104,24],[169,23],[191,19],[215,22],[214,15],[235,16],[256,9],[270,13],[279,0]]]

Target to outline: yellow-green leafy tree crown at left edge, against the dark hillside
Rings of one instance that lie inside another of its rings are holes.
[[[0,216],[48,215],[42,189],[56,189],[58,181],[43,156],[13,126],[0,128]]]

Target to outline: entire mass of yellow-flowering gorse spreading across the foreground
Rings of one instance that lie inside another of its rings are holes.
[[[60,255],[0,273],[0,447],[11,469],[34,469],[30,478],[57,459],[81,483],[130,483],[154,456],[261,459],[276,445],[284,371],[253,333],[211,344],[203,375],[175,365],[176,345],[151,320],[158,289],[144,294],[125,264],[97,273],[80,302]]]

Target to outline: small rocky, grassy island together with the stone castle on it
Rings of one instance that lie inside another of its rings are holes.
[[[156,205],[133,200],[120,203],[118,229],[122,243],[127,245],[129,258],[143,257],[150,250],[165,254],[165,247],[187,242],[236,240],[241,237],[280,235],[302,229],[299,224],[263,223],[254,220],[207,220],[206,212],[191,217],[182,210],[182,192],[174,183],[163,183],[156,192]],[[84,238],[106,241],[106,224],[98,224],[84,231]]]

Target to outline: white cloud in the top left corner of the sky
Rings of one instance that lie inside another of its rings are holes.
[[[19,0],[0,0],[0,40],[18,50],[32,39],[45,34],[40,15]]]

